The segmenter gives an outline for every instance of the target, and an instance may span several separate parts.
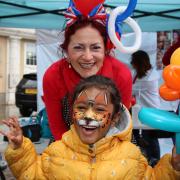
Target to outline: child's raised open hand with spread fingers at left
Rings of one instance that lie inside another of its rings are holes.
[[[4,132],[0,130],[0,134],[7,136],[13,149],[19,148],[23,142],[23,134],[17,117],[10,117],[7,120],[2,120],[2,122],[9,127],[9,131]]]

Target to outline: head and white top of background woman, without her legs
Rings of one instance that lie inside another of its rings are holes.
[[[133,95],[137,104],[144,107],[160,108],[159,73],[152,68],[148,54],[139,50],[132,54],[131,65],[135,70]]]

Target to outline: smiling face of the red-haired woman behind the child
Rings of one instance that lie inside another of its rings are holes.
[[[95,28],[81,28],[71,36],[67,58],[81,77],[95,75],[103,65],[104,56],[104,41]]]

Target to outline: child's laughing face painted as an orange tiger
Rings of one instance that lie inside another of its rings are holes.
[[[79,94],[73,105],[73,121],[83,143],[93,144],[106,135],[113,109],[106,90],[92,87]]]

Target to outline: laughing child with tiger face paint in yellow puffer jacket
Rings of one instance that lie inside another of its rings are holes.
[[[37,155],[22,136],[17,118],[3,121],[10,131],[6,160],[17,179],[180,179],[180,155],[165,155],[150,167],[130,142],[131,117],[114,83],[102,76],[80,82],[73,96],[73,125],[61,141]]]

